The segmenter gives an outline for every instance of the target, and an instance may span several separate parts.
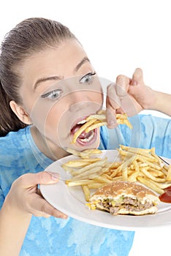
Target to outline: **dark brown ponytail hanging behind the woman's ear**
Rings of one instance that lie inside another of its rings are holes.
[[[26,124],[23,124],[10,108],[10,100],[0,80],[0,137],[7,135],[10,131],[18,131],[26,127]]]

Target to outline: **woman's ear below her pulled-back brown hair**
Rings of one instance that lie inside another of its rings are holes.
[[[29,114],[20,105],[18,105],[14,100],[9,102],[12,111],[24,124],[32,124]]]

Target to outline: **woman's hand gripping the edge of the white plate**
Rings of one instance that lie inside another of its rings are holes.
[[[58,182],[57,173],[27,173],[16,179],[5,203],[8,203],[12,209],[23,213],[33,214],[37,217],[57,217],[66,219],[66,215],[47,203],[42,197],[37,184],[54,184]]]

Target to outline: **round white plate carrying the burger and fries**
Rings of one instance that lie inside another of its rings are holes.
[[[118,151],[102,151],[100,157],[107,157],[109,161],[118,160]],[[47,167],[47,171],[59,173],[62,178],[70,178],[61,165],[77,157],[69,156],[53,162]],[[166,159],[171,163],[170,159]],[[68,216],[101,227],[110,227],[119,230],[137,230],[148,227],[167,227],[171,225],[171,203],[159,203],[156,214],[145,216],[117,215],[113,216],[107,212],[90,210],[86,206],[86,200],[81,187],[67,187],[64,180],[57,184],[40,185],[43,197],[55,208]]]

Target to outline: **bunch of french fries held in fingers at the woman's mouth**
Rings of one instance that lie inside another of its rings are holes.
[[[116,120],[118,124],[126,124],[130,129],[132,129],[132,124],[129,122],[128,116],[126,113],[124,114],[116,114]],[[102,127],[103,125],[107,125],[107,119],[105,115],[105,110],[99,111],[95,115],[88,116],[86,118],[86,123],[83,124],[80,129],[75,132],[75,135],[73,136],[72,143],[75,143],[77,138],[80,136],[80,134],[85,132],[90,132],[92,129],[96,129],[98,127]]]

